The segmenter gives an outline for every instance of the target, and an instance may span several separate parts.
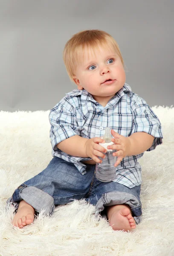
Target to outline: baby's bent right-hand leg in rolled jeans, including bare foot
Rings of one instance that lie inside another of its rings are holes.
[[[91,204],[112,226],[113,230],[132,230],[142,219],[141,186],[129,188],[116,182],[100,182],[94,177],[90,191]]]

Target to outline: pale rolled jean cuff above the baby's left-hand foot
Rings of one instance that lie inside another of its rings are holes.
[[[7,200],[7,204],[13,204],[14,211],[16,211],[21,200],[26,201],[39,213],[44,210],[44,215],[52,215],[55,209],[52,196],[34,186],[21,184]]]

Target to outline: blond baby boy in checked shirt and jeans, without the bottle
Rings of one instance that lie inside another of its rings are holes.
[[[142,219],[138,159],[162,144],[161,123],[125,83],[119,46],[107,32],[93,29],[73,35],[64,48],[64,63],[77,89],[49,113],[53,158],[8,199],[16,212],[12,224],[22,228],[42,209],[51,215],[55,206],[85,198],[113,230],[133,230]],[[116,150],[116,178],[101,182],[95,168],[105,157],[99,143],[104,143],[106,127],[114,143],[108,149]]]

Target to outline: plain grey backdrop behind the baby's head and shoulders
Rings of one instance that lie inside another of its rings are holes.
[[[49,110],[76,88],[62,53],[84,29],[116,39],[133,92],[174,105],[173,0],[0,0],[0,110]]]

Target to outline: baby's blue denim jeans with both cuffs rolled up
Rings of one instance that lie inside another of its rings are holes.
[[[96,165],[86,166],[87,174],[81,175],[73,163],[53,157],[46,169],[15,189],[7,204],[13,204],[16,211],[20,201],[24,200],[37,212],[44,209],[44,214],[51,215],[56,205],[85,198],[96,206],[96,215],[101,214],[106,219],[106,206],[128,204],[136,224],[139,224],[142,219],[141,186],[130,189],[113,181],[101,182],[96,179]]]

